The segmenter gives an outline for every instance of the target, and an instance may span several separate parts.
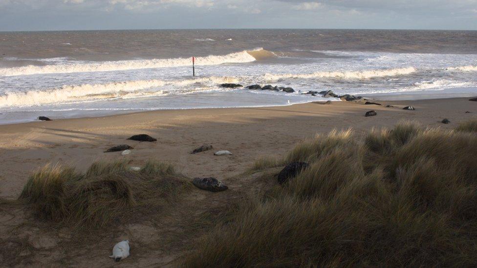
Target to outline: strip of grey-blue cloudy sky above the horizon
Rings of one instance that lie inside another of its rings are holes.
[[[0,31],[176,28],[477,30],[477,0],[0,0]]]

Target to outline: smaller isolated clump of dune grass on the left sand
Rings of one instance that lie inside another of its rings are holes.
[[[157,211],[188,186],[172,165],[154,161],[139,171],[126,161],[97,162],[85,173],[46,165],[30,176],[19,200],[43,220],[91,230]]]

